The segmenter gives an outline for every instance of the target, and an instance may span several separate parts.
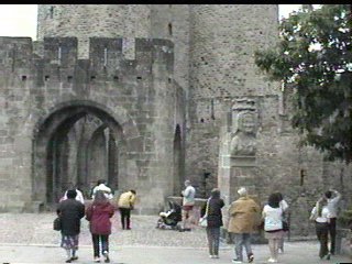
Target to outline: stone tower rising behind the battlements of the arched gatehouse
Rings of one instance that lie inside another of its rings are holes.
[[[95,18],[95,19],[92,19]],[[175,43],[175,78],[188,87],[189,8],[186,4],[38,4],[37,40],[78,38],[79,58],[88,57],[89,37],[123,37],[123,53],[134,56],[134,38]]]

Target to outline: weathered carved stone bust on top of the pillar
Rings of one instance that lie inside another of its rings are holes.
[[[230,145],[231,156],[254,156],[256,153],[255,116],[250,111],[243,111],[238,114],[237,120],[237,131],[233,133]]]

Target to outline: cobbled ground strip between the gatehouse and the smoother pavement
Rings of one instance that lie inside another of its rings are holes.
[[[148,245],[206,248],[206,232],[195,227],[191,232],[156,229],[157,216],[132,216],[132,230],[122,230],[117,212],[112,218],[110,245]],[[0,243],[58,244],[61,233],[53,230],[55,213],[0,213]],[[80,245],[91,245],[88,221],[81,220]]]

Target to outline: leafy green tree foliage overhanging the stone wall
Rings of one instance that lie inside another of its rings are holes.
[[[255,64],[294,89],[292,124],[301,143],[331,161],[352,162],[351,4],[302,8],[279,25],[277,46],[255,53]]]

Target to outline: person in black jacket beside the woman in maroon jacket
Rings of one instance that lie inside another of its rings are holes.
[[[76,190],[68,190],[67,199],[59,202],[57,208],[57,216],[59,216],[62,222],[61,246],[66,250],[66,263],[78,258],[76,251],[78,250],[80,219],[85,216],[85,206],[75,199],[76,195]]]

